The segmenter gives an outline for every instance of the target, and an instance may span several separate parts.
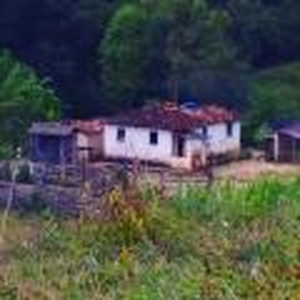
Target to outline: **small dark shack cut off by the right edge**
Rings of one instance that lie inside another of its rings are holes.
[[[266,137],[266,158],[269,161],[300,162],[300,121],[272,123]]]

